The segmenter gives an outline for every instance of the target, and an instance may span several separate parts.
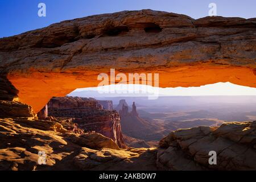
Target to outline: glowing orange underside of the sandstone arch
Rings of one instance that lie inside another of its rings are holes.
[[[106,73],[108,72],[106,71]],[[147,73],[148,71],[138,70],[137,72]],[[256,75],[252,69],[245,67],[195,65],[182,68],[162,68],[159,71],[155,69],[154,72],[159,73],[159,86],[162,88],[201,86],[216,82],[232,82],[233,84],[256,88]],[[104,71],[98,73],[89,71],[85,73],[36,72],[26,77],[13,75],[9,77],[9,80],[19,90],[19,100],[31,105],[37,112],[53,96],[64,97],[77,88],[96,87],[100,82],[97,80],[100,73],[104,73]]]

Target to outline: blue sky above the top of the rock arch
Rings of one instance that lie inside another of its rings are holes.
[[[38,16],[38,4],[46,3],[47,16]],[[208,5],[217,5],[217,15],[256,17],[255,0],[0,0],[0,38],[46,27],[61,20],[123,10],[153,9],[186,14],[192,18],[208,15]]]

